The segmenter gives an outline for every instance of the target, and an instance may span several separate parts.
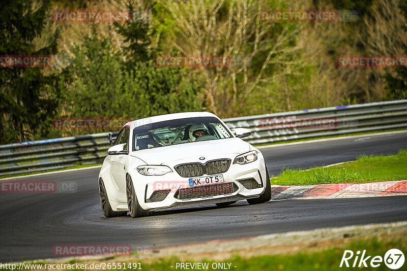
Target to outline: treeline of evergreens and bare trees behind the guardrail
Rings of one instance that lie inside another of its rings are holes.
[[[58,10],[133,10],[125,23],[55,22]],[[262,10],[356,10],[356,22],[266,22]],[[343,55],[407,55],[407,0],[139,0],[0,3],[0,144],[101,132],[58,117],[210,111],[221,118],[407,98],[406,68],[343,68]],[[226,67],[157,67],[156,55],[231,55]]]

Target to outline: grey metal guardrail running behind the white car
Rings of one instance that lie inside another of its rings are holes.
[[[329,107],[223,120],[252,132],[251,144],[342,134],[407,129],[407,100]],[[0,146],[0,176],[100,163],[110,146],[107,132]]]

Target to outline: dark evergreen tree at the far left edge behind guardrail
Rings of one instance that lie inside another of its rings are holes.
[[[36,48],[42,35],[49,1],[0,2],[0,143],[33,139],[54,113],[58,104],[57,75],[45,75],[43,67],[13,67],[5,64],[9,55],[52,55],[57,33],[49,44]]]

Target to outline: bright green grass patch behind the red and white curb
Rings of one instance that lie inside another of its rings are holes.
[[[309,185],[334,183],[369,183],[407,180],[407,151],[392,156],[360,156],[357,161],[308,171],[285,170],[271,178],[272,184]]]

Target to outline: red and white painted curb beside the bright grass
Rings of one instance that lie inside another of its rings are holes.
[[[272,185],[272,199],[406,195],[407,181],[363,184]]]

